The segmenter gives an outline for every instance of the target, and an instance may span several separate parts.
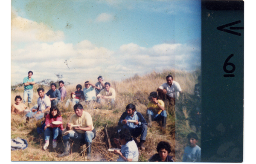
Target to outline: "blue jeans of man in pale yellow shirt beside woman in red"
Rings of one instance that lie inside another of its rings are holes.
[[[76,132],[74,130],[71,130],[69,132],[69,134],[62,136],[63,141],[68,141],[70,138],[73,140],[81,140],[83,138],[84,135],[84,139],[85,142],[92,142],[93,138],[94,138],[94,133],[91,131],[86,131],[84,134]]]

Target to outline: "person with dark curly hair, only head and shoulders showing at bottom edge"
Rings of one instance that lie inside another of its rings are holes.
[[[168,155],[171,152],[171,146],[168,142],[159,142],[157,152],[148,160],[149,162],[174,162],[172,156]]]

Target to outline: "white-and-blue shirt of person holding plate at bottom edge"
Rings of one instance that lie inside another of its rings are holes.
[[[132,159],[133,162],[139,160],[139,150],[134,140],[128,141],[125,145],[122,145],[120,152],[126,159]],[[123,158],[119,156],[118,162],[124,162]]]

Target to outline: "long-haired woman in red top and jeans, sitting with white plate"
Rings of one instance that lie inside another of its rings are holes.
[[[61,124],[52,124],[53,121],[60,121]],[[51,106],[50,113],[45,118],[45,127],[44,127],[44,150],[47,150],[47,147],[49,146],[49,139],[50,135],[52,133],[52,148],[55,149],[57,147],[57,137],[58,135],[61,135],[61,132],[63,130],[62,125],[62,117],[61,112],[57,108],[57,106]]]

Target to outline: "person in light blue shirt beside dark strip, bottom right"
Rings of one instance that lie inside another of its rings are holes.
[[[198,136],[195,132],[191,132],[187,136],[189,146],[185,147],[182,162],[200,162],[201,148],[196,145],[198,143]]]

